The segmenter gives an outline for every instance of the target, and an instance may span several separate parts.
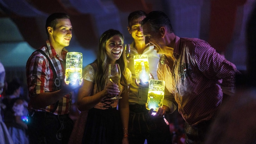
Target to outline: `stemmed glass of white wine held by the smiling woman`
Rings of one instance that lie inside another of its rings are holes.
[[[118,84],[119,80],[121,79],[121,71],[118,64],[109,64],[108,65],[108,78],[109,80],[114,83]],[[122,97],[116,95],[115,97],[111,98],[112,100],[122,99]]]

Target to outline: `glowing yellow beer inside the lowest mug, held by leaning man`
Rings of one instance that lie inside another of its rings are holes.
[[[157,111],[163,105],[164,92],[163,91],[148,91],[148,101],[146,108],[150,110],[154,108]]]

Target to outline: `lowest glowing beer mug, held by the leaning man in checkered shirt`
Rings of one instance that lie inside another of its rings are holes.
[[[164,86],[165,82],[160,80],[151,79],[148,87],[148,100],[146,108],[157,111],[159,107],[163,105],[164,100]]]

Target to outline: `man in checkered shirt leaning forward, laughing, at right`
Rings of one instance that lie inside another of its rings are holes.
[[[165,81],[164,106],[156,117],[173,112],[177,103],[186,121],[185,142],[203,143],[220,106],[234,95],[235,77],[240,72],[204,40],[176,36],[164,12],[148,13],[141,26],[145,44],[162,54],[157,77]]]

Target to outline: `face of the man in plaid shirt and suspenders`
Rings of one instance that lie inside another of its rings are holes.
[[[72,37],[72,25],[69,19],[57,19],[55,28],[48,27],[49,40],[54,48],[69,45]]]

